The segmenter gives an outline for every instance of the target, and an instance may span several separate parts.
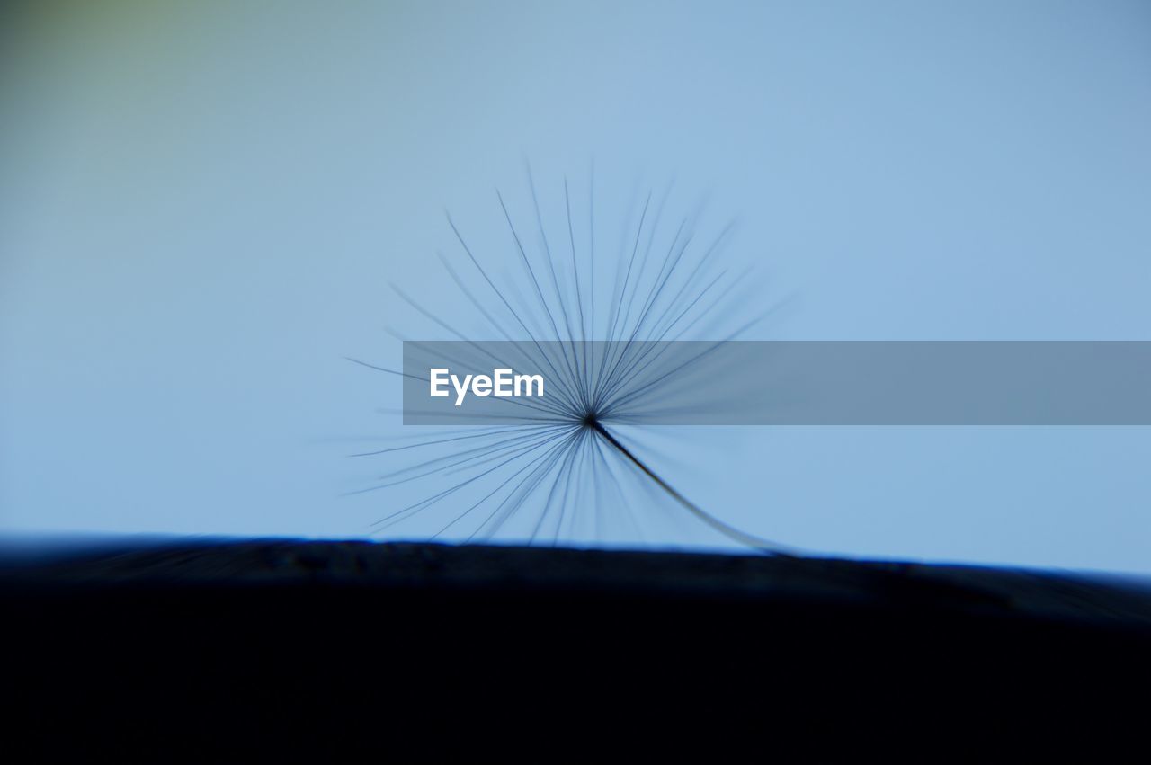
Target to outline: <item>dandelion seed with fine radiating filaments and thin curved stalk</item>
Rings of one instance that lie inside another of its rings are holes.
[[[717,263],[732,225],[703,242],[695,237],[695,216],[664,228],[669,188],[655,204],[653,193],[645,196],[637,219],[626,227],[624,244],[611,248],[596,240],[594,182],[589,181],[585,192],[586,221],[577,225],[573,196],[564,179],[558,235],[544,223],[531,171],[527,185],[531,206],[526,215],[496,192],[518,282],[497,278],[451,215],[447,216],[459,252],[456,258],[441,253],[440,260],[451,284],[475,309],[475,321],[468,322],[466,331],[404,290],[392,289],[417,313],[460,341],[457,347],[462,357],[468,357],[462,358],[463,362],[482,361],[494,374],[513,374],[508,359],[495,358],[478,341],[480,332],[494,332],[527,349],[525,353],[548,378],[548,395],[503,398],[519,407],[516,424],[439,430],[430,438],[358,454],[426,454],[379,476],[358,492],[403,488],[409,497],[418,497],[379,519],[376,529],[436,513],[440,530],[435,537],[491,538],[512,526],[531,542],[552,544],[581,533],[602,536],[609,528],[620,527],[642,536],[642,519],[635,517],[634,503],[626,500],[622,489],[624,481],[639,481],[654,488],[671,507],[686,510],[691,518],[727,538],[780,552],[780,545],[746,534],[689,500],[613,431],[617,423],[638,421],[643,406],[658,399],[661,380],[651,374],[658,368],[658,343],[708,334],[725,342],[762,319],[732,322],[732,318],[742,318],[739,312],[719,311],[731,305],[735,291],[746,283],[746,273],[732,274]],[[520,216],[532,223],[525,227]],[[603,305],[605,297],[609,299]],[[420,346],[416,341],[409,343]],[[674,364],[683,366],[685,361]],[[468,390],[477,392],[473,378],[449,376],[448,368],[432,369],[428,380],[418,378],[432,391],[440,391],[436,396],[458,396],[458,404]],[[541,377],[541,392],[542,385]],[[480,390],[486,391],[480,396],[491,391],[490,376],[481,381]],[[418,483],[426,485],[412,488]],[[605,513],[605,507],[618,512]]]

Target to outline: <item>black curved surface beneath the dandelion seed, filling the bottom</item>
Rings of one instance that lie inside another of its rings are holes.
[[[1151,713],[1151,591],[1035,572],[272,541],[0,609],[8,762],[1141,759]]]

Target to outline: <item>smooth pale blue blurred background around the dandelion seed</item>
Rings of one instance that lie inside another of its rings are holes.
[[[685,205],[738,215],[763,304],[794,296],[756,337],[1151,339],[1146,2],[0,18],[6,531],[366,534],[388,499],[341,497],[373,474],[342,454],[403,431],[375,412],[399,387],[343,357],[395,362],[386,326],[434,336],[389,281],[464,316],[442,209],[495,236],[524,156],[552,193],[594,158],[605,201],[674,176]],[[642,445],[716,515],[803,548],[1151,572],[1144,428]]]

